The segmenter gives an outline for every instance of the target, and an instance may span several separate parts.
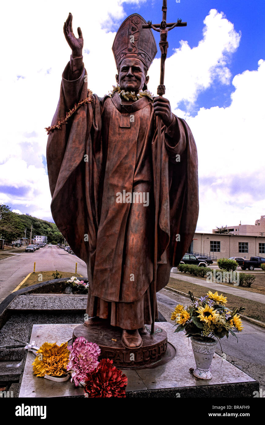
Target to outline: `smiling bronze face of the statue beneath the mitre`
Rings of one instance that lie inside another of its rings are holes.
[[[147,84],[148,76],[145,76],[144,65],[140,59],[123,59],[120,64],[120,74],[116,75],[116,81],[120,88],[125,91],[139,91]]]

